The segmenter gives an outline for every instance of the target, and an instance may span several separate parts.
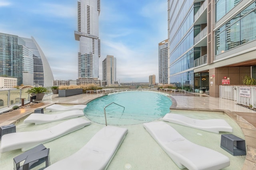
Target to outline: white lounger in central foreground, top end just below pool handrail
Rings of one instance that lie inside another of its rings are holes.
[[[45,170],[104,170],[118,150],[128,129],[106,126],[82,149]]]

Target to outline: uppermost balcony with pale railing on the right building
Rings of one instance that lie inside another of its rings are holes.
[[[208,0],[205,0],[202,6],[194,15],[194,25],[207,23],[207,6],[208,6]]]

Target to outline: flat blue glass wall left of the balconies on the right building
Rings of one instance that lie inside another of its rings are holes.
[[[194,86],[193,0],[170,1],[170,83],[192,91]],[[195,10],[198,10],[196,6]]]

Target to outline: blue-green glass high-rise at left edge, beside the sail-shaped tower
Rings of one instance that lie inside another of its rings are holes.
[[[23,81],[23,46],[18,44],[19,37],[0,33],[0,76],[17,78],[17,84]]]

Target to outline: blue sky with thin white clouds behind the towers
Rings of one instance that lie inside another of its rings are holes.
[[[101,0],[99,38],[102,61],[117,59],[117,80],[158,82],[158,43],[168,38],[167,0]],[[77,0],[0,0],[0,32],[33,36],[52,68],[54,79],[75,80],[79,41]]]

